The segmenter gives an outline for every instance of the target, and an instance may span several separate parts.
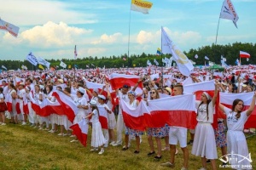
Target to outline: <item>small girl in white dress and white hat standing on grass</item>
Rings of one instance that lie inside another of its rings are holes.
[[[106,139],[104,138],[104,135],[102,133],[102,125],[99,121],[99,110],[97,107],[96,100],[90,100],[90,108],[91,113],[86,116],[85,118],[91,117],[92,122],[92,130],[91,130],[91,147],[92,149],[90,151],[98,150],[98,147],[101,147],[101,151],[99,152],[100,155],[104,153],[104,144],[106,143]]]

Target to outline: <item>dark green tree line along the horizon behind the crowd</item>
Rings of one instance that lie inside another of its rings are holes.
[[[226,58],[227,65],[235,65],[236,59],[239,59],[240,51],[245,51],[251,54],[251,58],[249,61],[247,59],[241,59],[242,65],[255,64],[256,59],[256,43],[241,43],[235,42],[233,44],[227,45],[215,45],[212,44],[210,46],[203,46],[201,48],[193,49],[191,48],[189,52],[183,52],[188,56],[189,59],[195,62],[195,65],[205,65],[205,62],[208,60],[205,59],[205,56],[209,58],[210,61],[215,62],[216,64],[220,64],[221,56]],[[195,59],[195,54],[199,57]],[[96,68],[96,67],[104,67],[105,68],[119,68],[119,67],[145,67],[147,66],[147,60],[149,59],[152,65],[154,64],[154,59],[156,59],[159,63],[159,66],[163,66],[162,59],[170,58],[171,54],[131,54],[129,57],[127,54],[122,54],[120,56],[102,56],[102,57],[84,57],[78,59],[45,59],[49,61],[50,66],[58,67],[61,69],[60,63],[61,61],[67,64],[67,69],[71,69],[74,65],[79,69],[88,68]],[[124,60],[125,59],[125,60]],[[21,60],[0,60],[0,65],[4,65],[8,70],[21,70],[21,65],[26,65],[28,70],[38,70],[38,66],[32,66],[26,59]],[[68,68],[68,65],[70,65]],[[86,66],[87,65],[87,66]],[[93,66],[94,65],[94,66]],[[44,66],[45,67],[45,66]],[[3,68],[0,68],[3,70]]]

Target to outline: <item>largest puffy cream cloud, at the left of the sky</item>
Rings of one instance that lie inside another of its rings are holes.
[[[15,43],[28,45],[30,47],[65,47],[77,42],[80,37],[90,34],[92,30],[67,26],[66,23],[60,22],[56,24],[52,21],[47,22],[43,26],[34,26],[29,30],[20,33]],[[13,38],[9,34],[3,37],[6,42],[11,42]]]

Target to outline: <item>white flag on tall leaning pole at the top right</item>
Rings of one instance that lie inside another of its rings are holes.
[[[239,17],[236,14],[236,9],[233,6],[231,0],[224,0],[219,18],[232,20],[234,25],[236,26],[236,21],[239,19]]]

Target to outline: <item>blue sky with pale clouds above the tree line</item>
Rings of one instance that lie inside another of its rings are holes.
[[[183,51],[215,42],[256,42],[256,0],[231,0],[239,16],[219,20],[223,0],[148,0],[149,14],[131,11],[131,0],[0,0],[0,17],[20,27],[18,37],[0,30],[0,59],[101,58],[156,54],[161,26]],[[130,37],[130,38],[129,38]],[[130,41],[129,41],[130,39]],[[129,44],[129,46],[128,46]],[[129,48],[128,48],[129,47]]]

